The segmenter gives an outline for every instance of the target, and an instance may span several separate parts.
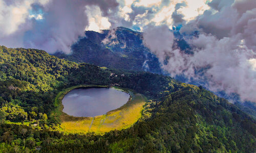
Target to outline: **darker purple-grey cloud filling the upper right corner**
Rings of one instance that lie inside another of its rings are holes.
[[[184,25],[180,32],[189,34],[199,30],[219,39],[242,34],[247,47],[256,50],[255,1],[213,0],[209,6],[211,9]]]

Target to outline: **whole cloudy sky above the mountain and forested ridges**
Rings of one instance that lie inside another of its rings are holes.
[[[172,77],[254,102],[255,25],[255,0],[0,0],[0,45],[70,54],[85,30],[126,27],[143,32]],[[177,46],[175,31],[193,54]]]

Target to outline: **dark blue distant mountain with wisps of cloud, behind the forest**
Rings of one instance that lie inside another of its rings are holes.
[[[75,62],[135,71],[162,73],[157,57],[142,43],[142,33],[118,27],[102,33],[87,31],[72,45],[73,53],[54,56]]]

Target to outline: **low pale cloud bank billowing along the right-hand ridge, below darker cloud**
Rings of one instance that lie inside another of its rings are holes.
[[[243,101],[256,102],[256,54],[246,46],[243,34],[222,39],[207,34],[189,38],[193,55],[173,48],[174,40],[170,39],[174,36],[167,28],[153,27],[143,38],[172,77],[184,74],[188,79],[208,82],[206,87],[211,91],[237,93]]]

